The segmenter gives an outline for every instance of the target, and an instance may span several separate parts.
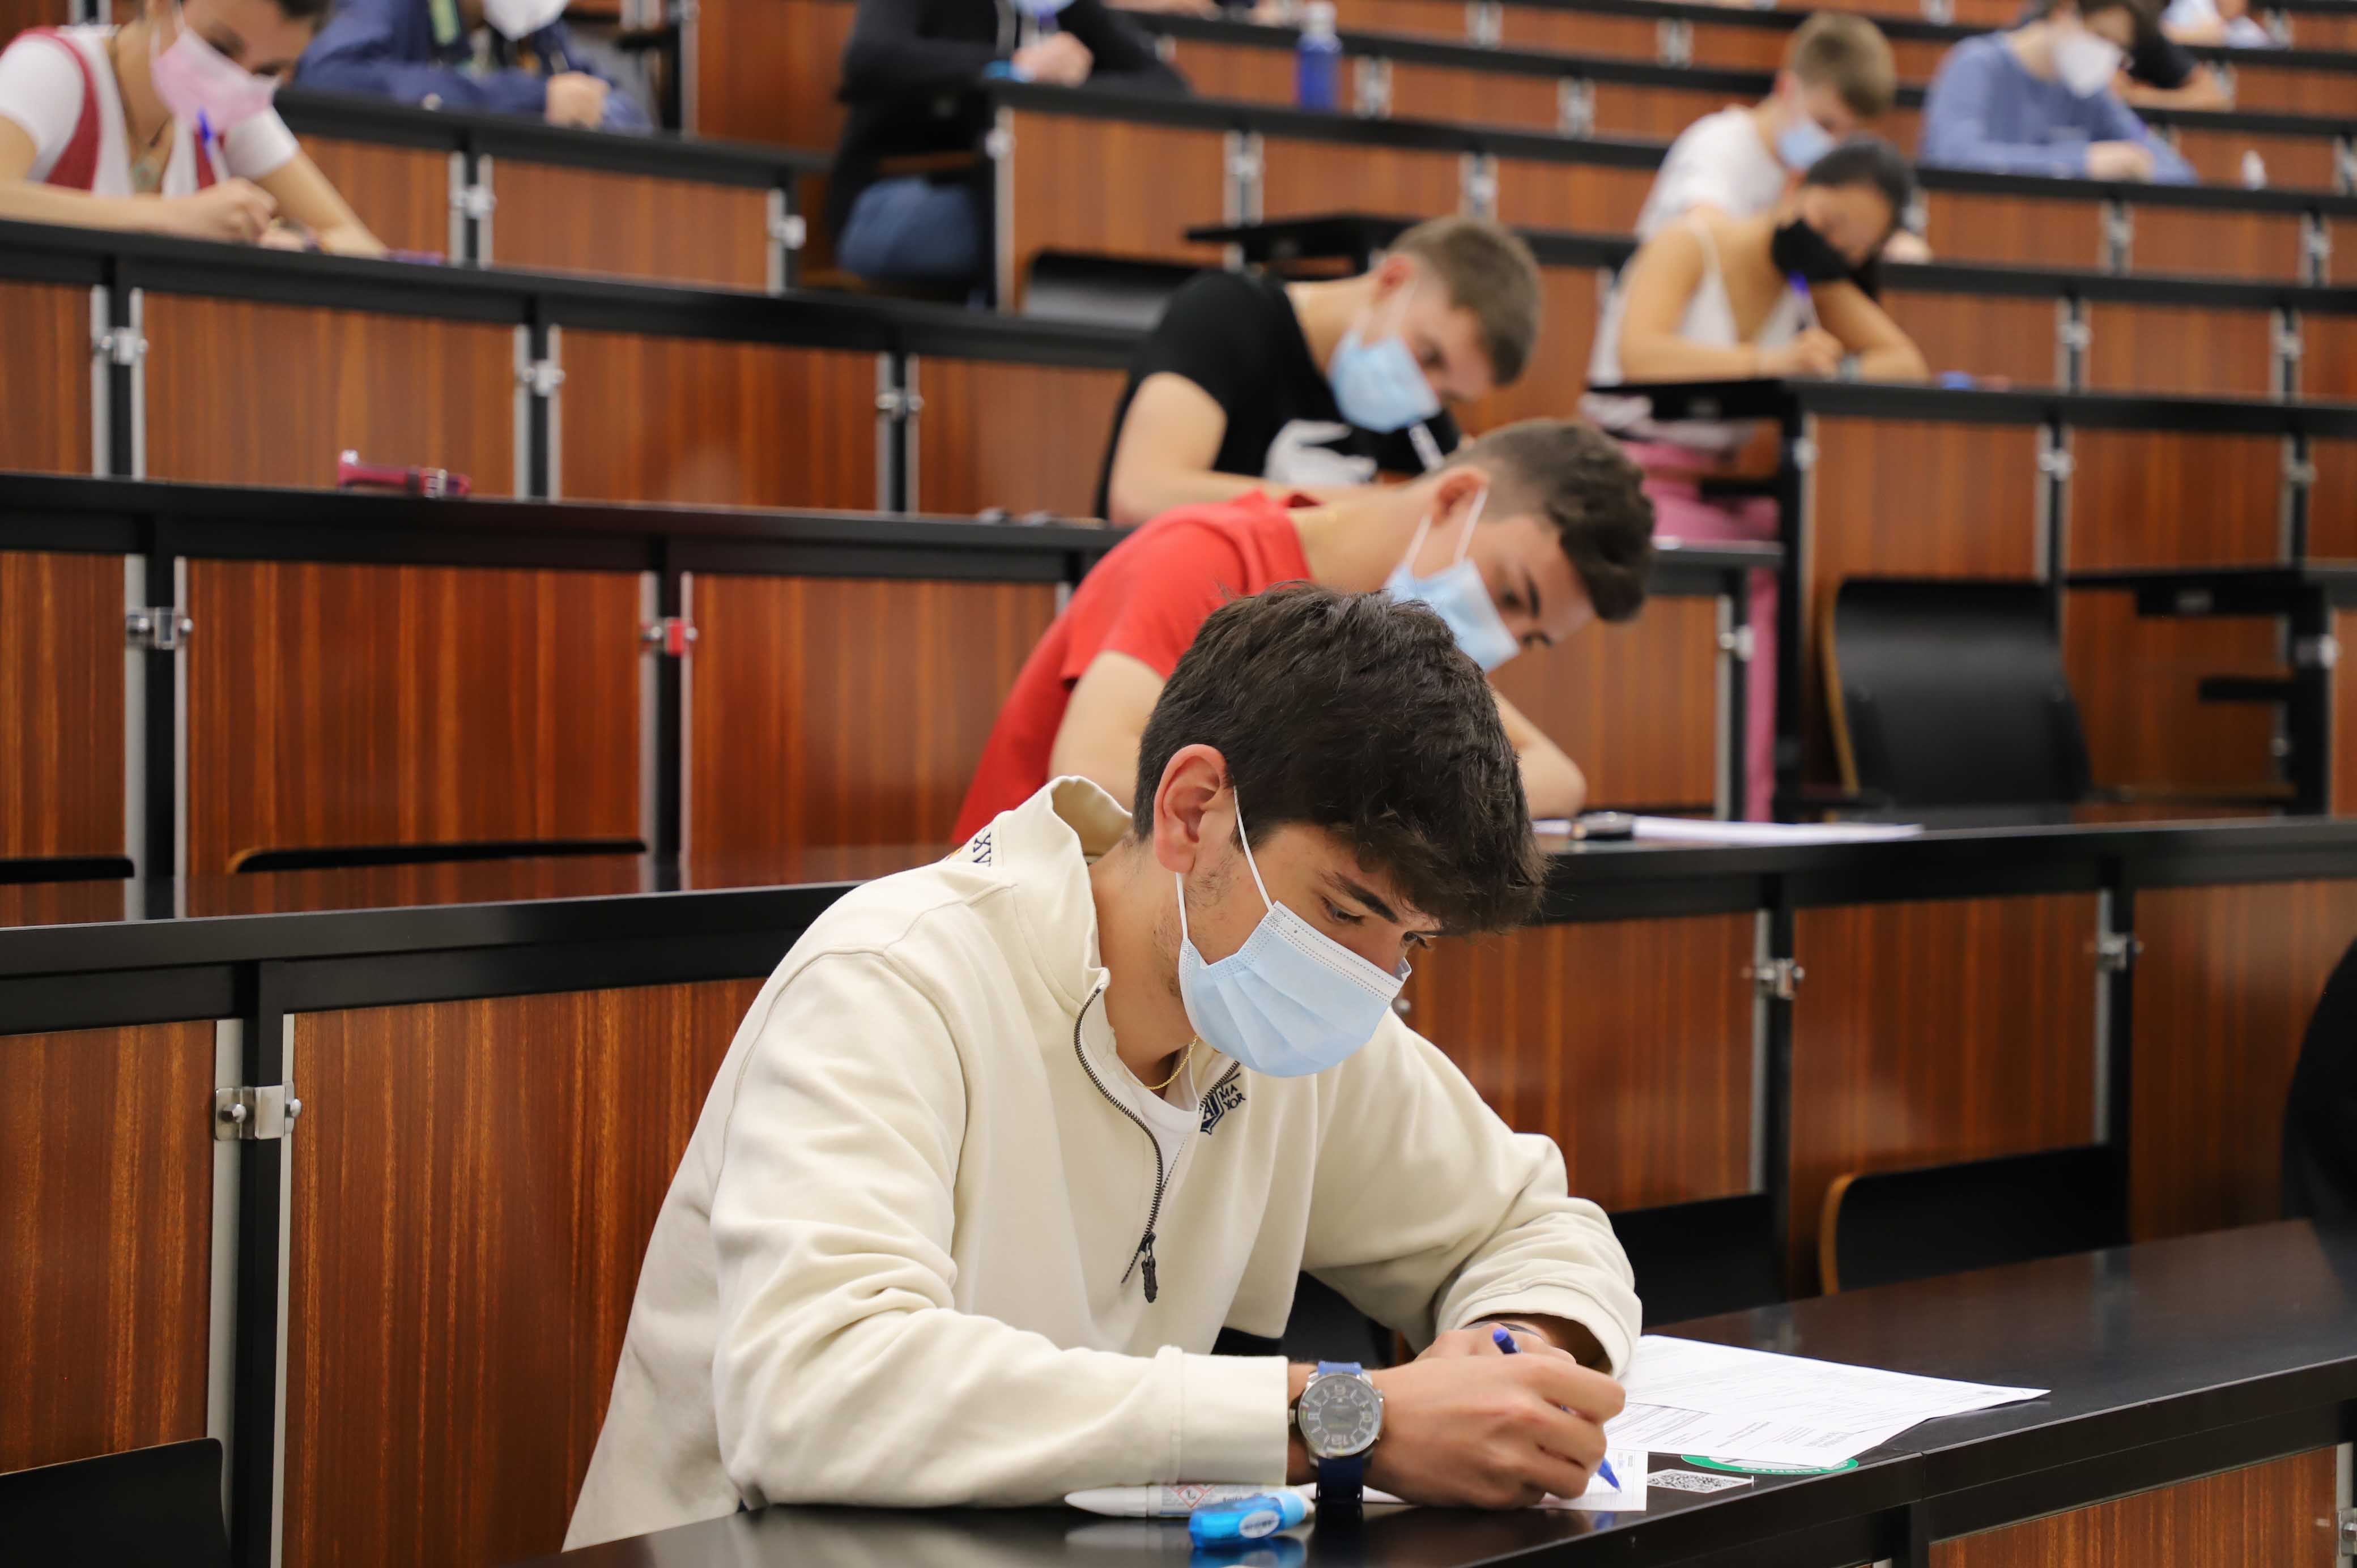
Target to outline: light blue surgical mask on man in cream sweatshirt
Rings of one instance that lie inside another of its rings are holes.
[[[1308,1078],[1341,1066],[1374,1040],[1407,981],[1407,964],[1384,974],[1270,898],[1261,868],[1252,863],[1242,802],[1235,806],[1235,837],[1244,844],[1252,887],[1261,889],[1268,913],[1242,948],[1207,964],[1186,931],[1186,877],[1176,877],[1178,1000],[1188,1023],[1214,1052],[1268,1078]]]

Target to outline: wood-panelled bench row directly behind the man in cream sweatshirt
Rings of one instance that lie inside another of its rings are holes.
[[[0,929],[0,1172],[38,1195],[9,1252],[82,1259],[0,1294],[0,1379],[26,1394],[0,1469],[212,1431],[240,1566],[271,1561],[280,1467],[288,1568],[554,1549],[759,976],[849,879],[936,851],[691,858],[702,891],[662,898],[636,856],[236,877],[224,910],[323,910],[271,920],[0,887],[0,924],[45,927]],[[1813,1292],[1817,1203],[1850,1170],[2107,1146],[2140,1240],[2272,1219],[2357,839],[1605,849],[1556,856],[1544,920],[1421,960],[1409,1019],[1631,1233],[1728,1238],[1737,1306],[1763,1269]],[[288,1085],[295,1134],[212,1141],[200,1108],[236,1082]],[[99,1153],[127,1137],[137,1160]],[[236,1325],[210,1306],[226,1278]]]

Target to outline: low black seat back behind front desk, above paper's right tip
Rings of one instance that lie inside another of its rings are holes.
[[[1827,1292],[2117,1247],[2128,1205],[2100,1144],[1836,1177],[1817,1226]]]

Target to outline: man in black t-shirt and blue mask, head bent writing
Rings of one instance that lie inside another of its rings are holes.
[[[1367,274],[1190,278],[1129,365],[1096,509],[1143,523],[1261,488],[1334,498],[1457,446],[1445,403],[1523,375],[1539,264],[1497,224],[1435,217]]]

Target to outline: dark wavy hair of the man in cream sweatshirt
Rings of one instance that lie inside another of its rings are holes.
[[[1226,759],[1254,844],[1325,828],[1447,931],[1539,908],[1546,861],[1497,696],[1421,604],[1287,582],[1211,611],[1138,740],[1138,837],[1186,745]]]

